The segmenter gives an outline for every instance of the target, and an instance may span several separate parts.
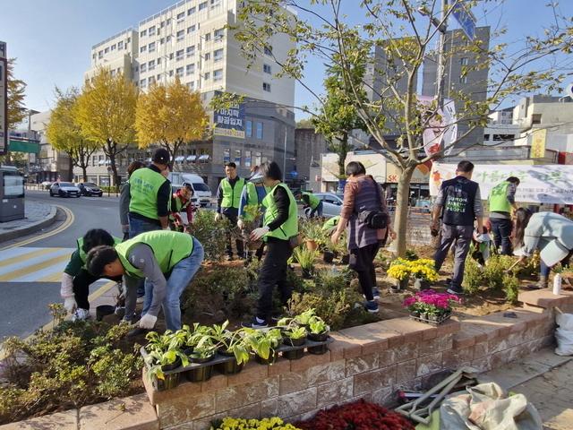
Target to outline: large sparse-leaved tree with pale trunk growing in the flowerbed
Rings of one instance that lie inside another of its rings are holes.
[[[501,2],[492,0],[487,6],[491,10]],[[368,133],[380,145],[372,150],[381,148],[381,153],[400,172],[394,220],[399,255],[406,253],[409,185],[415,168],[440,159],[445,150],[442,145],[428,156],[419,156],[423,132],[436,129],[443,103],[442,91],[437,91],[438,96],[431,103],[423,103],[416,94],[416,82],[423,71],[424,59],[435,56],[433,46],[439,39],[439,29],[450,18],[454,7],[481,3],[449,0],[449,5],[441,10],[441,0],[312,0],[310,4],[303,0],[247,0],[237,16],[239,24],[233,29],[235,39],[249,64],[260,61],[265,52],[268,56],[269,46],[277,34],[296,42],[286,55],[273,54],[272,59],[278,65],[277,75],[295,79],[320,104],[323,100],[305,80],[306,73],[316,73],[306,70],[308,58],[338,67],[340,88],[348,104],[355,108]],[[349,23],[344,14],[344,6],[348,4],[363,12],[360,23]],[[461,56],[476,59],[463,65],[463,75],[489,68],[486,94],[477,97],[477,93],[471,91],[449,89],[449,99],[458,107],[457,123],[466,125],[465,132],[458,133],[451,142],[454,148],[476,127],[486,125],[492,109],[504,100],[560,88],[567,73],[556,56],[571,51],[573,31],[569,16],[560,16],[554,4],[548,7],[553,7],[554,22],[535,29],[535,36],[524,39],[521,46],[489,47],[476,38],[445,50],[445,64]],[[505,29],[494,32],[492,39],[503,31]],[[381,58],[384,61],[380,64]],[[360,75],[364,64],[372,66],[373,82]],[[361,76],[360,82],[357,76]],[[372,92],[372,97],[365,100],[363,90]],[[385,136],[396,128],[399,137],[395,145]]]

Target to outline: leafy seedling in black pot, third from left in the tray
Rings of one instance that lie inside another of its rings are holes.
[[[221,374],[238,374],[251,356],[244,338],[244,331],[228,331],[228,323],[226,321],[212,327],[212,337],[217,343],[218,353],[229,357],[228,361],[219,363],[217,368]]]

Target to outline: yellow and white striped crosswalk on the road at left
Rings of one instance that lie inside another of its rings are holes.
[[[0,251],[0,282],[59,282],[75,248],[21,246]]]

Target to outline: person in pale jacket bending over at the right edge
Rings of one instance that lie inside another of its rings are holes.
[[[554,212],[532,214],[526,208],[516,211],[516,264],[523,264],[535,250],[540,250],[539,282],[532,289],[547,288],[549,274],[558,262],[569,265],[573,255],[573,220]],[[514,266],[516,265],[514,264]],[[510,268],[513,269],[513,266]]]

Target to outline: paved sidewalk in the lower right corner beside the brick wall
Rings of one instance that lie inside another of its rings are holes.
[[[479,379],[525,394],[541,414],[544,429],[573,428],[573,357],[560,357],[553,349],[543,349],[481,374]]]

